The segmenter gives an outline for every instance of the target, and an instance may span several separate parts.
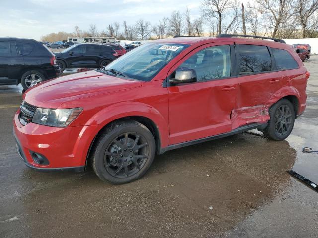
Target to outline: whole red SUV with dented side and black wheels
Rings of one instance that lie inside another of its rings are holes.
[[[305,110],[308,78],[287,44],[161,39],[103,70],[29,89],[13,132],[28,167],[83,171],[91,162],[100,179],[125,183],[167,150],[251,129],[284,140]]]

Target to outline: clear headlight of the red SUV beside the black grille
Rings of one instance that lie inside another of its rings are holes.
[[[70,109],[46,109],[37,108],[33,115],[32,122],[40,125],[48,125],[54,127],[66,127],[74,119],[76,119],[82,108]]]

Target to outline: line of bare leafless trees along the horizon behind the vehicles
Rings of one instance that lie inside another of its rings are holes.
[[[255,0],[244,5],[237,0],[203,0],[201,16],[191,10],[177,10],[151,24],[144,19],[134,24],[115,21],[98,30],[74,27],[71,33],[51,33],[42,41],[66,40],[67,37],[116,37],[118,40],[161,39],[175,35],[216,36],[220,33],[251,34],[276,38],[318,37],[318,0]]]

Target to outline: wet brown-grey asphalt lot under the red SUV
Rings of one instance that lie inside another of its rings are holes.
[[[307,108],[281,142],[252,131],[158,155],[138,181],[111,185],[84,173],[27,168],[12,135],[19,86],[0,86],[0,238],[316,238],[318,55]]]

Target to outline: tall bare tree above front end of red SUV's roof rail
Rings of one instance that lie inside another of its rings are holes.
[[[229,3],[230,0],[203,0],[203,15],[208,19],[215,18],[218,21],[217,34],[222,32],[222,21],[227,9],[231,7]]]

